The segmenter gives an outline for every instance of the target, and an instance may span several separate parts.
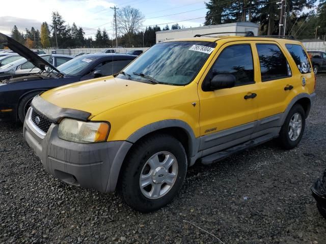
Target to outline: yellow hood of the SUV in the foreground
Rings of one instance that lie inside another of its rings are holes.
[[[151,84],[108,76],[61,86],[43,93],[41,97],[61,108],[89,112],[92,118],[114,107],[180,87],[182,86]]]

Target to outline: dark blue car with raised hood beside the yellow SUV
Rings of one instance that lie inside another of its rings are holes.
[[[41,56],[1,33],[0,44],[7,45],[29,59],[31,64],[40,70],[37,74],[0,82],[0,118],[21,121],[24,120],[32,99],[39,93],[61,85],[118,73],[137,57],[126,54],[88,54],[71,59],[56,68]]]

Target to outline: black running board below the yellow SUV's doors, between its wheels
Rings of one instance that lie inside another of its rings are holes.
[[[265,143],[265,142],[273,139],[274,137],[275,137],[275,134],[267,134],[267,135],[258,137],[256,139],[252,139],[250,141],[244,142],[242,144],[239,144],[239,145],[236,145],[233,147],[229,147],[223,151],[218,151],[217,153],[207,155],[207,156],[201,158],[201,163],[204,165],[209,165],[209,164],[215,163],[217,161],[220,161],[220,160],[223,160],[223,159],[229,157],[232,154],[236,154],[243,150],[246,150],[246,149],[252,148],[254,146],[257,146],[259,144]]]

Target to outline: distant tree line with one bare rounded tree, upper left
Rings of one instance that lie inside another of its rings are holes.
[[[130,6],[124,7],[117,12],[117,27],[119,30],[118,45],[124,47],[149,47],[156,43],[155,32],[169,30],[166,25],[160,28],[158,25],[142,28],[145,17],[138,10]],[[171,29],[184,28],[178,23],[173,24]],[[86,37],[84,29],[66,24],[63,16],[58,12],[52,12],[51,23],[43,22],[39,29],[32,27],[25,28],[24,32],[19,31],[14,25],[11,37],[31,49],[42,48],[104,48],[115,47],[115,38],[110,38],[105,28],[98,28],[95,38]],[[2,48],[2,47],[0,47]]]

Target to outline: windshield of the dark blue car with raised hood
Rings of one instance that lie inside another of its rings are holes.
[[[87,55],[75,57],[68,62],[60,65],[57,67],[57,69],[66,74],[66,75],[83,75],[84,70],[88,67],[91,66],[94,62],[94,60],[98,57],[89,57]]]

